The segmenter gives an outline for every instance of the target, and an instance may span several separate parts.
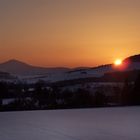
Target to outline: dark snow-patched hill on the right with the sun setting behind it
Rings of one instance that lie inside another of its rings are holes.
[[[124,59],[122,65],[120,66],[114,66],[114,64],[106,64],[93,68],[71,70],[65,76],[65,79],[73,80],[81,78],[99,78],[106,74],[108,75],[103,77],[103,79],[108,79],[107,77],[110,76],[109,74],[111,73],[113,73],[113,75],[118,75],[115,72],[120,72],[123,75],[125,72],[136,70],[140,70],[140,55],[134,55]]]

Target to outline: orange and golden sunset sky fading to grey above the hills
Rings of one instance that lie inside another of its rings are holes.
[[[97,66],[140,53],[140,0],[0,0],[0,62]]]

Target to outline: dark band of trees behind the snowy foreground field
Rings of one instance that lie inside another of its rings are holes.
[[[69,90],[43,81],[36,84],[0,82],[0,111],[90,108],[106,106],[140,105],[140,75],[132,84],[125,80],[121,90],[107,96],[106,91],[94,94],[88,88]],[[14,100],[3,105],[4,99]]]

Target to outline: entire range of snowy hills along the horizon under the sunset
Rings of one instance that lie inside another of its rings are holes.
[[[27,82],[36,82],[38,80],[57,82],[81,78],[101,77],[106,73],[132,70],[140,70],[140,55],[124,59],[121,66],[108,64],[93,68],[43,68],[32,66],[18,60],[10,60],[0,64],[0,71],[16,75],[18,79]]]

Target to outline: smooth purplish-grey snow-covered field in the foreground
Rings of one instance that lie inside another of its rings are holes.
[[[140,140],[140,107],[1,112],[0,140]]]

